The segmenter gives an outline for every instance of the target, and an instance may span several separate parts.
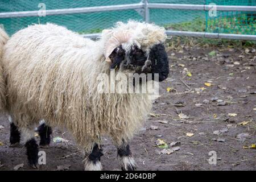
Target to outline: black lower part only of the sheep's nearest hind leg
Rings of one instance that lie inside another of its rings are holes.
[[[34,138],[28,140],[25,144],[27,148],[28,164],[32,168],[38,168],[38,144]]]

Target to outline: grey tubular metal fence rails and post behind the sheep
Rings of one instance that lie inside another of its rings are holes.
[[[213,9],[213,5],[187,5],[174,3],[151,3],[148,0],[143,0],[139,3],[130,3],[126,5],[110,5],[110,6],[95,6],[95,7],[78,7],[71,9],[53,9],[46,10],[46,16],[52,15],[67,15],[67,14],[81,14],[81,13],[97,13],[105,11],[120,11],[120,10],[136,10],[143,16],[145,22],[151,22],[150,10],[168,9],[168,10],[191,10],[191,11],[205,11]],[[214,6],[216,11],[241,11],[241,12],[256,12],[256,6]],[[18,11],[18,12],[3,12],[0,13],[1,18],[17,18],[39,16],[39,11]],[[256,22],[255,22],[256,23]],[[256,35],[241,35],[241,34],[222,34],[219,32],[192,32],[192,31],[175,31],[167,30],[167,35],[174,36],[195,36],[201,38],[216,38],[216,39],[242,39],[242,40],[256,40]],[[84,34],[88,38],[97,38],[100,34]]]

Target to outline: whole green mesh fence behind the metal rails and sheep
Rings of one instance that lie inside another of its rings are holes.
[[[45,3],[46,9],[51,10],[123,5],[139,2],[141,2],[141,0],[0,0],[0,13],[39,10],[39,3]],[[256,6],[256,0],[149,0],[149,2],[195,5],[216,3],[216,5]],[[210,17],[208,11],[150,9],[150,22],[154,22],[171,30],[255,35],[255,14],[255,12],[218,11],[217,16]],[[30,24],[43,24],[46,22],[60,24],[70,30],[86,34],[100,32],[104,28],[112,27],[117,21],[126,22],[129,19],[143,20],[143,15],[136,10],[121,10],[101,13],[52,15],[46,17],[0,18],[0,24],[4,25],[10,35]]]

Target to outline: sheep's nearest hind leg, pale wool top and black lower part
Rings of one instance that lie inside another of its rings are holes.
[[[27,148],[28,164],[32,168],[38,168],[38,144],[34,138],[35,131],[32,127],[22,128],[21,133],[26,141],[25,147]]]

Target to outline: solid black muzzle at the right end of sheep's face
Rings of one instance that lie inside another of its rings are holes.
[[[159,74],[159,81],[163,81],[169,74],[169,61],[166,50],[163,44],[156,44],[151,48],[149,59],[151,60],[152,78],[154,79],[154,73]]]

